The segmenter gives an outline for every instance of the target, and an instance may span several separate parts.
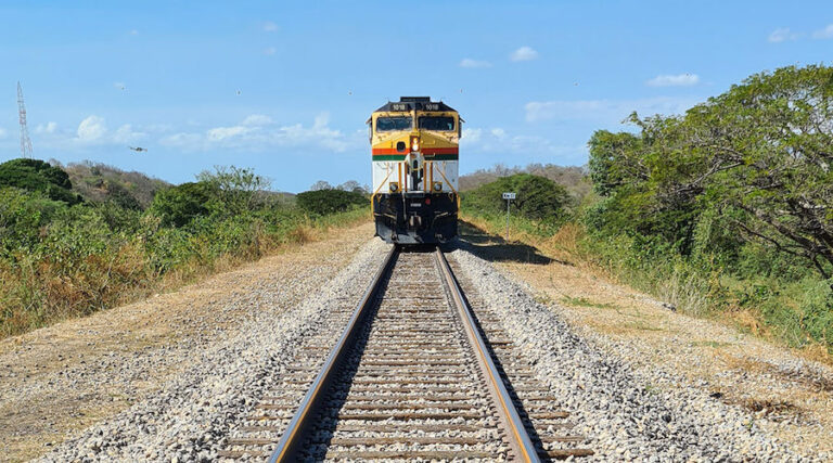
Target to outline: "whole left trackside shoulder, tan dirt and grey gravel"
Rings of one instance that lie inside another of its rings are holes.
[[[221,416],[245,397],[241,385],[266,381],[281,356],[272,348],[291,350],[279,339],[303,332],[299,313],[349,295],[326,292],[336,275],[361,281],[361,259],[381,254],[370,235],[369,224],[345,230],[175,293],[1,340],[0,461],[36,458],[67,439],[74,455],[134,461],[208,447]],[[321,304],[302,308],[310,295]]]

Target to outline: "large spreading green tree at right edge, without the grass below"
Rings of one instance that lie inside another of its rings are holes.
[[[685,241],[715,209],[744,239],[831,275],[833,67],[756,74],[684,116],[631,121],[639,141],[597,132],[590,142],[597,189],[619,210],[644,206],[645,223]]]

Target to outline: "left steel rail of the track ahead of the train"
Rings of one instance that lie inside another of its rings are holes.
[[[387,254],[387,257],[385,257],[385,261],[380,266],[379,271],[375,276],[373,276],[368,290],[364,292],[361,301],[356,307],[356,310],[354,310],[350,320],[347,322],[347,326],[344,329],[338,342],[333,346],[332,350],[330,350],[330,355],[326,357],[324,365],[321,368],[318,376],[316,376],[309,390],[307,390],[307,394],[304,396],[304,400],[302,400],[298,410],[295,412],[286,430],[281,436],[281,440],[278,441],[278,447],[269,458],[269,463],[297,461],[295,456],[298,450],[300,450],[300,446],[306,435],[305,432],[312,424],[311,421],[323,402],[321,397],[326,395],[333,378],[337,374],[338,368],[344,363],[344,360],[349,352],[349,346],[354,344],[353,340],[358,334],[357,332],[359,330],[356,330],[356,327],[360,325],[368,312],[368,307],[372,305],[373,299],[379,294],[382,280],[384,279],[384,275],[387,274],[397,253],[397,247],[394,246]]]

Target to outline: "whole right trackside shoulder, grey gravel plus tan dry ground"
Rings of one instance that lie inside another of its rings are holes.
[[[833,369],[466,228],[452,254],[603,459],[830,461]],[[464,284],[464,287],[466,284]]]

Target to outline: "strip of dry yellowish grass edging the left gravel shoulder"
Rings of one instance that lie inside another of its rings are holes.
[[[283,236],[273,236],[256,224],[252,243],[233,254],[210,259],[208,243],[193,243],[195,257],[165,273],[153,271],[141,243],[129,242],[116,252],[93,254],[67,265],[61,256],[36,260],[16,256],[16,266],[0,261],[0,338],[26,333],[73,317],[142,299],[155,293],[175,291],[197,279],[228,271],[265,255],[325,240],[332,230],[353,228],[368,221],[367,215],[307,219]]]

